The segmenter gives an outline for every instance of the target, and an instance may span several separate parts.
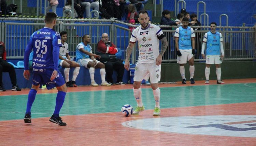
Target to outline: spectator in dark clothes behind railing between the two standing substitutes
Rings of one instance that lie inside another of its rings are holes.
[[[195,21],[196,23],[193,24],[193,26],[201,26],[201,23],[197,20],[197,15],[195,13],[191,14],[190,16],[191,21]],[[195,31],[200,31],[200,28],[194,28]],[[197,54],[196,56],[199,58],[200,57],[200,52],[201,52],[201,33],[195,33],[196,35],[196,50],[197,50]]]

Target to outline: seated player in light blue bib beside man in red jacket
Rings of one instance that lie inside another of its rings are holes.
[[[93,54],[91,46],[89,45],[90,42],[91,37],[89,35],[84,35],[83,41],[76,47],[76,62],[79,63],[80,66],[89,69],[92,86],[99,86],[94,80],[95,68],[100,68],[101,86],[111,86],[111,84],[105,81],[105,65],[95,59],[100,58],[100,56]]]

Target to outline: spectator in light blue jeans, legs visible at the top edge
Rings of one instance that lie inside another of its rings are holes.
[[[98,0],[82,0],[81,5],[85,8],[86,18],[90,17],[90,10],[99,11],[99,1]],[[97,13],[94,13],[94,17],[99,17]]]

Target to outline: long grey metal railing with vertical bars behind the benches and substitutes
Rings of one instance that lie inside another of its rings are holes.
[[[1,18],[1,19],[29,19],[35,21],[40,21],[41,23],[11,23],[4,22],[0,23],[0,39],[5,43],[6,52],[8,58],[23,58],[24,51],[29,40],[29,37],[34,31],[37,31],[45,25],[42,23],[43,19],[39,18]],[[58,19],[58,21],[82,21],[79,19]],[[129,39],[131,36],[130,29],[128,26],[136,27],[136,25],[131,25],[116,20],[98,20],[98,19],[88,19],[83,20],[86,22],[76,22],[74,23],[59,23],[56,25],[55,30],[58,32],[67,31],[69,44],[69,52],[71,56],[75,56],[75,48],[78,43],[82,41],[82,36],[89,34],[91,36],[91,47],[93,52],[96,49],[98,41],[101,39],[102,33],[108,33],[110,36],[110,41],[117,45],[122,51],[121,59],[125,59],[126,47],[129,44]],[[87,23],[89,22],[89,23]],[[120,25],[124,24],[124,25]],[[167,39],[168,39],[168,49],[163,55],[163,62],[176,62],[176,49],[174,41],[175,30],[164,30],[164,28],[176,28],[177,26],[166,26],[161,25],[160,28],[163,29]],[[196,49],[197,54],[195,55],[195,61],[203,61],[201,57],[201,45],[203,36],[209,31],[209,26],[191,26],[192,28],[201,28],[200,31],[195,31],[196,34]],[[224,60],[253,60],[255,59],[255,28],[254,27],[231,27],[231,26],[218,26],[221,28],[223,36],[223,44],[225,51]],[[203,30],[207,29],[207,30]],[[161,44],[160,44],[161,45]],[[161,48],[161,47],[160,47]],[[131,62],[135,63],[138,59],[138,45],[133,50],[131,55]]]

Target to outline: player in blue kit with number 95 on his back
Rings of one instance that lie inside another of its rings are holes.
[[[58,71],[59,50],[61,47],[60,34],[54,31],[57,15],[49,12],[45,15],[45,27],[35,31],[27,44],[24,53],[24,77],[29,80],[29,54],[33,49],[32,87],[28,94],[27,110],[24,117],[25,123],[31,123],[31,107],[40,84],[46,84],[47,89],[57,87],[56,106],[50,122],[66,126],[59,117],[60,109],[64,103],[67,86],[64,78]]]

